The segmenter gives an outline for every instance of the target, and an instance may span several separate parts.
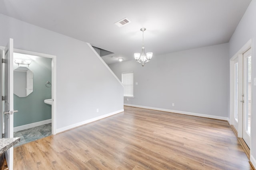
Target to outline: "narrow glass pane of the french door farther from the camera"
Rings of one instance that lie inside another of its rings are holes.
[[[235,69],[235,77],[234,77],[234,94],[235,94],[235,100],[234,100],[234,117],[235,120],[238,122],[238,62],[234,64],[234,69]]]

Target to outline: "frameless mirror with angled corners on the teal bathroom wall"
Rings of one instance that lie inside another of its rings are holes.
[[[13,92],[26,97],[33,92],[33,72],[28,67],[18,67],[13,72]]]

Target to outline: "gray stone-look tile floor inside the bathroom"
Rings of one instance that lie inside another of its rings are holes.
[[[14,137],[20,137],[20,143],[14,145],[14,147],[18,147],[25,143],[29,143],[32,141],[36,141],[37,139],[41,139],[44,137],[48,137],[52,135],[52,123],[48,123],[45,125],[32,127],[29,129],[24,129],[22,131],[14,132]]]

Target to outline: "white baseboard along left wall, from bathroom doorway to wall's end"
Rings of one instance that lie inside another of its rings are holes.
[[[91,123],[91,122],[94,122],[94,121],[97,121],[97,120],[100,120],[100,119],[103,119],[103,118],[106,118],[106,117],[109,117],[109,116],[112,116],[112,115],[115,115],[115,114],[118,114],[118,113],[121,113],[123,111],[124,111],[124,109],[121,109],[121,110],[118,110],[118,111],[114,111],[112,113],[108,113],[106,115],[101,115],[101,116],[98,116],[98,117],[94,117],[92,119],[88,119],[86,121],[81,121],[81,122],[75,123],[73,125],[68,125],[68,126],[65,126],[65,127],[61,127],[61,128],[56,129],[56,133],[60,133],[60,132],[63,132],[63,131],[66,131],[66,130],[69,130],[69,129],[72,129],[72,128],[75,128],[75,127],[78,127],[78,126],[81,126],[81,125],[85,125],[85,124],[88,124],[88,123]]]

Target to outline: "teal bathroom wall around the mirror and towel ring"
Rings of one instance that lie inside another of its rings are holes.
[[[14,94],[14,110],[18,110],[18,113],[14,114],[14,127],[52,118],[52,106],[44,103],[45,99],[52,98],[52,88],[45,86],[47,81],[52,82],[52,59],[28,57],[32,60],[28,68],[34,73],[34,87],[33,92],[27,97],[18,97]],[[16,68],[18,65],[14,64],[14,69]]]

